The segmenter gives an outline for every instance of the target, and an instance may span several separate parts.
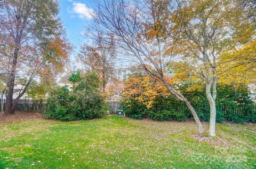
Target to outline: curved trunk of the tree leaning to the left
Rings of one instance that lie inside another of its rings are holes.
[[[169,85],[165,82],[164,82],[164,85],[167,87],[167,89],[169,90],[170,93],[172,93],[178,100],[183,101],[186,104],[186,106],[189,108],[189,110],[191,111],[191,113],[196,121],[196,124],[198,126],[198,136],[201,137],[203,134],[203,127],[202,127],[202,123],[200,122],[200,119],[197,116],[197,113],[196,113],[194,107],[185,98],[185,96],[183,96],[180,92],[175,90],[171,85]]]

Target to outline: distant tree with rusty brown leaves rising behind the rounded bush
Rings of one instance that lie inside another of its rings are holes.
[[[106,86],[114,75],[116,59],[116,46],[113,35],[109,36],[110,41],[104,41],[102,35],[98,34],[93,46],[84,44],[78,54],[79,61],[82,62],[85,71],[94,71],[102,81],[102,90],[106,91]]]

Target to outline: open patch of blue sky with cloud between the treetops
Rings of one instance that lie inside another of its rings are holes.
[[[84,26],[86,23],[92,21],[92,8],[93,3],[90,0],[58,0],[60,13],[59,17],[66,29],[67,38],[69,42],[75,47],[75,52],[79,51],[83,42],[86,42],[86,38],[82,35]]]

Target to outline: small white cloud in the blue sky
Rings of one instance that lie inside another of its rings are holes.
[[[77,13],[79,18],[83,19],[93,19],[94,11],[90,9],[85,4],[74,2],[73,3],[73,13]]]

